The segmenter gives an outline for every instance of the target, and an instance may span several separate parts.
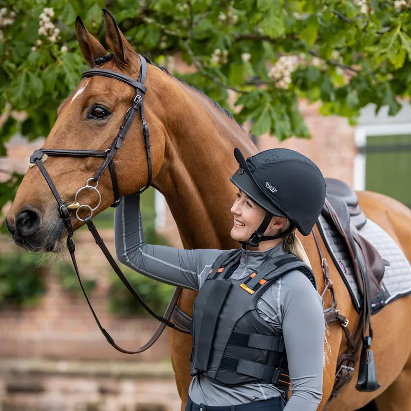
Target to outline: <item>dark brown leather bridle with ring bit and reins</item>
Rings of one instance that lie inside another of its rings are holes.
[[[98,184],[99,184],[100,177],[102,176],[104,171],[107,169],[107,167],[108,167],[110,175],[111,175],[111,184],[113,185],[113,193],[114,193],[114,202],[113,202],[113,204],[111,204],[111,207],[117,207],[119,202],[120,202],[120,195],[119,195],[119,189],[118,189],[118,183],[117,183],[116,170],[115,170],[115,167],[114,167],[114,156],[117,153],[117,151],[119,150],[122,142],[124,141],[124,139],[126,137],[126,134],[129,130],[130,126],[132,125],[133,120],[136,117],[136,114],[138,113],[138,111],[140,111],[141,121],[143,123],[142,126],[143,126],[144,147],[145,147],[145,152],[146,152],[146,157],[147,157],[147,164],[148,164],[148,179],[147,179],[147,184],[145,185],[145,187],[142,190],[140,190],[137,194],[143,193],[145,190],[148,189],[148,187],[150,187],[150,185],[152,183],[153,166],[152,166],[151,151],[150,151],[150,132],[148,131],[148,124],[147,124],[147,122],[145,121],[145,118],[144,118],[144,95],[145,95],[145,92],[147,90],[144,83],[145,83],[145,78],[146,78],[146,74],[147,74],[147,62],[144,59],[144,57],[142,57],[142,55],[139,54],[139,57],[140,57],[140,63],[141,64],[140,64],[140,71],[139,71],[139,76],[138,76],[137,81],[130,78],[130,77],[128,77],[128,76],[125,76],[124,74],[119,73],[117,71],[106,70],[106,69],[102,69],[102,68],[92,68],[90,70],[86,70],[86,71],[83,72],[83,78],[92,77],[92,76],[104,76],[104,77],[108,77],[108,78],[111,78],[111,79],[122,81],[123,83],[126,83],[126,84],[134,87],[134,89],[136,90],[136,95],[133,99],[133,102],[130,105],[130,107],[128,108],[128,110],[125,114],[124,120],[123,120],[123,122],[120,126],[119,132],[118,132],[116,138],[114,139],[113,143],[111,143],[110,148],[108,148],[105,151],[98,151],[98,150],[58,150],[58,149],[54,149],[54,148],[39,148],[30,157],[30,163],[33,166],[38,165],[40,171],[42,172],[45,180],[47,181],[47,184],[49,185],[49,187],[50,187],[50,189],[51,189],[51,191],[54,195],[54,198],[57,201],[60,217],[63,219],[63,221],[64,221],[64,223],[67,227],[67,231],[68,231],[67,248],[68,248],[68,251],[70,253],[71,260],[73,262],[74,270],[76,270],[76,274],[77,274],[77,277],[79,279],[80,287],[81,287],[81,289],[83,291],[83,294],[86,298],[86,301],[87,301],[87,304],[88,304],[88,306],[91,310],[91,313],[94,316],[94,319],[96,320],[96,323],[97,323],[98,327],[100,328],[101,332],[103,333],[103,335],[106,338],[106,340],[108,341],[108,343],[111,344],[118,351],[124,352],[126,354],[135,354],[135,353],[138,353],[138,352],[142,352],[142,351],[146,350],[147,348],[151,347],[157,341],[157,339],[160,337],[162,331],[164,330],[164,328],[166,326],[170,327],[170,328],[174,328],[175,330],[180,331],[180,332],[189,333],[185,329],[178,327],[176,324],[174,324],[170,321],[171,314],[172,314],[172,312],[173,312],[173,310],[174,310],[174,308],[177,304],[178,297],[181,293],[181,288],[177,288],[175,290],[175,292],[173,294],[173,297],[172,297],[172,299],[169,303],[169,306],[167,307],[167,309],[164,313],[164,316],[156,314],[144,302],[144,300],[138,294],[138,292],[135,290],[133,285],[130,284],[130,282],[124,276],[124,274],[120,270],[119,266],[117,265],[115,259],[110,254],[110,252],[108,251],[106,245],[104,244],[104,241],[101,238],[100,234],[98,233],[97,228],[94,225],[94,222],[92,222],[92,220],[91,220],[93,212],[96,211],[99,208],[100,203],[101,203],[101,194],[98,190]],[[101,157],[101,158],[104,158],[104,161],[101,164],[101,166],[99,167],[99,169],[97,170],[94,177],[89,178],[86,181],[86,185],[83,186],[81,189],[79,189],[77,191],[76,195],[74,196],[74,202],[72,204],[67,205],[61,199],[57,189],[55,188],[55,185],[53,184],[53,182],[50,178],[50,175],[48,174],[47,170],[45,169],[45,166],[44,166],[43,163],[47,159],[47,156]],[[93,182],[96,183],[96,184],[92,185]],[[82,192],[85,189],[93,190],[93,191],[97,192],[97,194],[99,196],[99,202],[98,202],[96,207],[92,208],[88,204],[80,204],[77,201],[79,193]],[[81,218],[79,216],[79,210],[82,209],[82,208],[88,209],[89,212],[90,212],[90,214],[88,216],[84,217],[84,218]],[[88,227],[88,230],[94,236],[97,245],[100,247],[101,251],[103,252],[105,257],[107,258],[107,260],[110,263],[111,267],[113,267],[114,271],[119,276],[119,278],[121,279],[123,284],[127,287],[127,289],[133,294],[133,296],[136,298],[136,300],[141,304],[141,306],[150,315],[152,315],[156,320],[161,322],[161,324],[158,327],[156,333],[153,335],[153,337],[150,339],[150,341],[148,341],[144,346],[142,346],[138,350],[129,351],[129,350],[125,350],[125,349],[119,347],[115,343],[113,338],[111,338],[110,334],[102,327],[102,325],[100,324],[100,321],[97,318],[97,315],[96,315],[94,309],[92,308],[92,306],[90,304],[90,301],[87,297],[86,291],[85,291],[85,289],[83,287],[83,284],[81,282],[76,257],[74,255],[74,252],[75,252],[76,248],[75,248],[73,240],[72,240],[73,227],[72,227],[72,224],[71,224],[70,210],[76,210],[76,217],[80,221],[84,221],[86,223],[86,225]]]

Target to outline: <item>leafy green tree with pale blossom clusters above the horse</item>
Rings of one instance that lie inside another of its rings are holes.
[[[408,2],[0,0],[0,109],[27,114],[3,125],[0,154],[16,132],[47,136],[57,106],[79,83],[87,67],[74,35],[77,15],[104,44],[107,7],[135,49],[159,65],[180,51],[197,71],[177,76],[228,109],[234,90],[236,119],[253,119],[257,136],[283,140],[309,137],[299,98],[350,122],[371,102],[398,112],[411,86]]]

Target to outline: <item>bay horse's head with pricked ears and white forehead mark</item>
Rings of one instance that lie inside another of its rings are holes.
[[[117,27],[113,16],[105,10],[104,17],[106,42],[113,51],[113,58],[107,57],[108,52],[87,31],[78,17],[76,35],[84,58],[91,67],[117,71],[137,80],[140,69],[138,54]],[[153,67],[150,69],[145,83],[147,88],[150,88],[151,73],[157,71],[159,70]],[[154,73],[154,76],[156,75],[158,74]],[[107,150],[119,132],[126,111],[135,98],[135,92],[130,85],[113,78],[84,78],[72,95],[60,105],[58,118],[43,145],[44,149]],[[150,102],[145,104],[145,117],[151,134],[155,136],[151,141],[154,179],[164,159],[164,129],[154,115],[156,111],[161,111],[162,107],[159,106],[158,99],[150,94],[144,101]],[[146,107],[148,105],[151,107]],[[44,156],[43,161],[62,201],[70,204],[74,202],[77,191],[95,175],[103,158]],[[115,156],[115,173],[120,195],[136,192],[147,182],[147,157],[139,114],[136,115],[121,150]],[[101,204],[94,211],[94,215],[106,209],[114,200],[108,168],[99,180],[98,189],[101,193]],[[91,208],[95,208],[99,202],[97,192],[92,189],[82,190],[77,200]],[[79,210],[79,215],[84,217],[90,214],[89,211],[89,208],[83,208]],[[82,221],[75,217],[75,212],[76,210],[71,211],[74,230],[82,225]],[[63,249],[67,228],[59,212],[58,203],[37,165],[31,167],[25,175],[7,215],[6,224],[16,244],[24,248],[31,251],[56,252]]]

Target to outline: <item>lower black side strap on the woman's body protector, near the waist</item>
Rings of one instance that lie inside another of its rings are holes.
[[[224,356],[220,364],[221,369],[239,372],[259,380],[270,381],[276,385],[290,385],[290,377],[281,368],[269,367],[253,361]]]

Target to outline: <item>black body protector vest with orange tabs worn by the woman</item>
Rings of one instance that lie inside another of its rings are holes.
[[[290,386],[284,338],[257,313],[260,295],[292,270],[316,288],[311,269],[293,255],[265,261],[251,276],[231,279],[241,250],[222,253],[194,301],[191,375],[201,372],[225,385],[272,383]]]

